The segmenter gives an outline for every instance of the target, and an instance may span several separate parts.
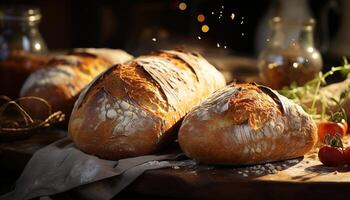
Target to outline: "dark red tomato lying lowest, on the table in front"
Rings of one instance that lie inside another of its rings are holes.
[[[323,146],[318,152],[320,161],[330,167],[337,167],[345,164],[343,150],[337,147]]]

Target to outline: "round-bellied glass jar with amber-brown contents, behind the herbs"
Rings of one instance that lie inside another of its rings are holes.
[[[271,37],[260,53],[258,67],[263,83],[281,89],[295,82],[302,85],[322,68],[322,57],[314,46],[315,21],[295,21],[274,17]]]

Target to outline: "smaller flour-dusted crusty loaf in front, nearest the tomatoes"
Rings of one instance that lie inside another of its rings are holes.
[[[303,156],[316,143],[317,128],[299,105],[270,88],[232,84],[186,115],[178,140],[203,163],[257,164]]]

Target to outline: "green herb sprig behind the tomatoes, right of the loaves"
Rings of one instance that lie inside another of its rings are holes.
[[[338,66],[338,67],[332,67],[330,71],[326,73],[318,73],[314,79],[308,81],[302,86],[297,86],[296,83],[292,83],[288,87],[284,87],[279,92],[288,97],[289,99],[292,99],[294,102],[303,105],[305,102],[311,102],[311,106],[304,106],[304,109],[307,113],[309,113],[315,120],[323,120],[326,119],[326,110],[328,107],[327,104],[327,97],[323,95],[320,92],[320,89],[322,86],[326,85],[326,78],[333,75],[335,72],[340,72],[342,75],[346,76],[350,73],[350,64],[348,64],[348,61],[346,58],[344,58],[344,65]],[[340,107],[342,101],[345,97],[347,97],[350,93],[350,85],[347,87],[346,90],[344,90],[341,94],[339,99],[331,98],[332,101],[334,101],[338,106],[339,109],[341,109],[342,116],[344,117],[345,113],[344,110]],[[321,113],[319,114],[317,111],[316,104],[321,104]],[[339,115],[337,113],[336,115]],[[335,115],[335,116],[336,116]],[[332,115],[333,116],[333,115]],[[346,116],[345,116],[346,117]],[[345,118],[346,119],[346,118]]]

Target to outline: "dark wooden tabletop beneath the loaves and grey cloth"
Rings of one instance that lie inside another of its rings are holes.
[[[38,134],[0,143],[1,167],[23,168],[35,150],[64,137],[66,132]],[[344,140],[350,144],[350,137]],[[350,167],[325,167],[314,149],[304,158],[245,167],[197,165],[148,171],[126,194],[191,199],[347,199]],[[5,156],[5,157],[4,157]],[[6,158],[6,159],[4,159]],[[14,162],[13,162],[14,161]]]

